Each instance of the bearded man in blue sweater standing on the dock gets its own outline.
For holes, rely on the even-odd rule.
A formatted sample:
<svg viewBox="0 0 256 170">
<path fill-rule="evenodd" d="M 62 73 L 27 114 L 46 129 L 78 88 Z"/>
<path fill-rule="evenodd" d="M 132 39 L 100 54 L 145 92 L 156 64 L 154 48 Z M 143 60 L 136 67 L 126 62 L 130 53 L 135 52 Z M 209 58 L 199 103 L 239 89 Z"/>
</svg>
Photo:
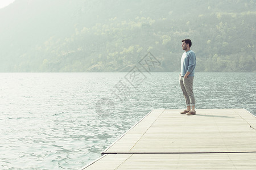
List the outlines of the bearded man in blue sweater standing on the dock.
<svg viewBox="0 0 256 170">
<path fill-rule="evenodd" d="M 180 87 L 186 100 L 187 109 L 181 114 L 195 115 L 196 100 L 193 93 L 193 79 L 195 76 L 196 54 L 190 49 L 192 42 L 182 40 L 182 49 L 185 50 L 181 57 Z"/>
</svg>

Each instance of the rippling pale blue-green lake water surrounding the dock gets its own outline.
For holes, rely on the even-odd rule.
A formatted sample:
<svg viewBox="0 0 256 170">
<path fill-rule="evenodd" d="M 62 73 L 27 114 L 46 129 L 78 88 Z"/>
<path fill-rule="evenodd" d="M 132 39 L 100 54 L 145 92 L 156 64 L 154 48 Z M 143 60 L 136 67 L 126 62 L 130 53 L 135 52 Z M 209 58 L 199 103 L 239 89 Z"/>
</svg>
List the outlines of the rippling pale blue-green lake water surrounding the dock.
<svg viewBox="0 0 256 170">
<path fill-rule="evenodd" d="M 0 73 L 0 79 L 0 169 L 79 169 L 152 109 L 185 108 L 179 73 Z M 255 85 L 255 73 L 196 73 L 196 108 L 256 115 Z"/>
</svg>

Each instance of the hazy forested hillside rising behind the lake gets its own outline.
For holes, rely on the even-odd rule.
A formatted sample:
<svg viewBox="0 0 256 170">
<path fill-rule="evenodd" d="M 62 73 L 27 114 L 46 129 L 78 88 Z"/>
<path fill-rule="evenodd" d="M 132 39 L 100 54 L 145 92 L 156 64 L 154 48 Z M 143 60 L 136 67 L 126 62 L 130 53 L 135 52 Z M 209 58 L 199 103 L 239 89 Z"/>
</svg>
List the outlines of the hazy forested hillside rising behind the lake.
<svg viewBox="0 0 256 170">
<path fill-rule="evenodd" d="M 16 0 L 0 22 L 1 72 L 179 71 L 183 39 L 196 71 L 256 71 L 253 0 Z"/>
</svg>

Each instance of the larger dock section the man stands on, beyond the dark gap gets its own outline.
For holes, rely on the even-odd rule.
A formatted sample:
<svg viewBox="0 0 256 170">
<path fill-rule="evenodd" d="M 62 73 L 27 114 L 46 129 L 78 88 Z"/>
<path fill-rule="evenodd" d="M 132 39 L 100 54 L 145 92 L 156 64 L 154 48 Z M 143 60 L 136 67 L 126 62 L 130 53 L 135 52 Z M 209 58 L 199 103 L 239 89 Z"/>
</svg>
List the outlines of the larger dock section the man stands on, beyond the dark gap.
<svg viewBox="0 0 256 170">
<path fill-rule="evenodd" d="M 153 114 L 158 115 L 151 116 L 156 120 L 142 120 L 104 154 L 256 151 L 256 130 L 246 116 L 241 118 L 248 114 L 245 109 L 197 109 L 196 116 L 181 115 L 178 110 Z"/>
</svg>

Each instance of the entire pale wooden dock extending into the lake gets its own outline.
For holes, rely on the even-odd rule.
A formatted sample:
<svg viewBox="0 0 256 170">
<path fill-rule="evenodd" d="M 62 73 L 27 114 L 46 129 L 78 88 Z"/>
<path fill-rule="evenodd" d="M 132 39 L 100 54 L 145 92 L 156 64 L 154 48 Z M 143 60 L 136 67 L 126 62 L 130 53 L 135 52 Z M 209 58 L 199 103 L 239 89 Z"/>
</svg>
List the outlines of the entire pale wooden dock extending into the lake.
<svg viewBox="0 0 256 170">
<path fill-rule="evenodd" d="M 256 169 L 256 117 L 245 109 L 154 109 L 81 169 Z"/>
</svg>

